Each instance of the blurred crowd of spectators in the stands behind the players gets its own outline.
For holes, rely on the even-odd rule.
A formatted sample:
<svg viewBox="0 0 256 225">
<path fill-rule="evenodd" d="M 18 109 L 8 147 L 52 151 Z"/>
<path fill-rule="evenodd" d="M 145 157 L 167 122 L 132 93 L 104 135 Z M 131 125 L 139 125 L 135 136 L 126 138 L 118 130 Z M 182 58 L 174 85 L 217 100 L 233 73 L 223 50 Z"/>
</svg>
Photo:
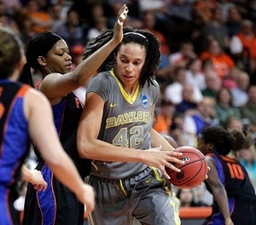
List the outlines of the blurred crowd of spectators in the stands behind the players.
<svg viewBox="0 0 256 225">
<path fill-rule="evenodd" d="M 25 48 L 38 32 L 59 34 L 74 68 L 86 43 L 113 28 L 123 3 L 129 8 L 125 26 L 160 39 L 155 130 L 177 146 L 196 147 L 210 125 L 243 130 L 256 140 L 255 0 L 0 0 L 0 26 L 11 27 Z M 256 189 L 255 154 L 253 145 L 239 159 Z M 212 204 L 203 184 L 194 191 L 177 193 L 195 194 L 192 206 Z"/>
</svg>

